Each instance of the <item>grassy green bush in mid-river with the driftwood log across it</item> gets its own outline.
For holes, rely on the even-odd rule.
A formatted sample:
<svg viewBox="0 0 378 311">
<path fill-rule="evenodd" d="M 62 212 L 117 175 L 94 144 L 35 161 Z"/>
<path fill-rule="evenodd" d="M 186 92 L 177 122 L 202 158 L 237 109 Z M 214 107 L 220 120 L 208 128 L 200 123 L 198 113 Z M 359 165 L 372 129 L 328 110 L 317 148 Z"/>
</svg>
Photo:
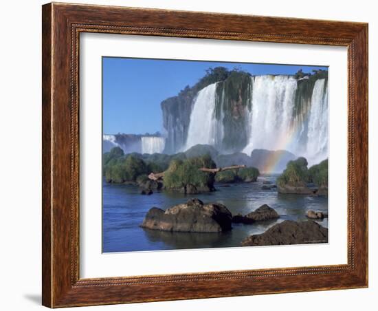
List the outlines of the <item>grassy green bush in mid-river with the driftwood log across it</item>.
<svg viewBox="0 0 378 311">
<path fill-rule="evenodd" d="M 210 156 L 201 156 L 187 160 L 172 160 L 164 175 L 164 187 L 168 190 L 186 189 L 188 185 L 199 191 L 213 190 L 214 174 L 200 171 L 201 167 L 216 167 Z"/>
</svg>

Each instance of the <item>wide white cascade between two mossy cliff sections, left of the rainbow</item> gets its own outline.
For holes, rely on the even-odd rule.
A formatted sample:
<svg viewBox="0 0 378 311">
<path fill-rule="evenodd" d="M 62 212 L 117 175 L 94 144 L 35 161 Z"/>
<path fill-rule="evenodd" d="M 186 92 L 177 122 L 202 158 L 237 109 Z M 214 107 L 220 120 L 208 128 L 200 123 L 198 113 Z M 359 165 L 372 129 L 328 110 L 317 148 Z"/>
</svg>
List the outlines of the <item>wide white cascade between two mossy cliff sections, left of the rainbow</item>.
<svg viewBox="0 0 378 311">
<path fill-rule="evenodd" d="M 280 146 L 291 130 L 297 81 L 291 76 L 252 78 L 252 109 L 249 111 L 249 143 L 243 152 L 253 149 L 290 149 Z"/>
</svg>

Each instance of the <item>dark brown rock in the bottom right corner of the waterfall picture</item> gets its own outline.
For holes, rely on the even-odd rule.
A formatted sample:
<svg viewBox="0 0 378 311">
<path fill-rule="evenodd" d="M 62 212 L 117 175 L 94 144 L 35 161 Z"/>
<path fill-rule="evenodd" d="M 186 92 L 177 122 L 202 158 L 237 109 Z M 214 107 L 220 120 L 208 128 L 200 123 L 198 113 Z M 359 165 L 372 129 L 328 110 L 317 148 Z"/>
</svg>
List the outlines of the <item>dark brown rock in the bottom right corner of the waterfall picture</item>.
<svg viewBox="0 0 378 311">
<path fill-rule="evenodd" d="M 285 220 L 260 235 L 251 235 L 242 246 L 313 244 L 328 242 L 328 229 L 313 220 L 294 222 Z"/>
</svg>

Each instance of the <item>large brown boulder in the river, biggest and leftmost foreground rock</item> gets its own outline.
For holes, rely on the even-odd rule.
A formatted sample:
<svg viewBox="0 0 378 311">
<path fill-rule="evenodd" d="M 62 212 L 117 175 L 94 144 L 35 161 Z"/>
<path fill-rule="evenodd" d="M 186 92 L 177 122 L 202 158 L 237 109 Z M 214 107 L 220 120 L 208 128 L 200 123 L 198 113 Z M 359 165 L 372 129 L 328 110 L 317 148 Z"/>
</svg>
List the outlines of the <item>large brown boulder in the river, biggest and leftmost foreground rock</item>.
<svg viewBox="0 0 378 311">
<path fill-rule="evenodd" d="M 152 230 L 217 233 L 231 230 L 231 219 L 232 214 L 224 205 L 192 199 L 166 211 L 151 208 L 141 226 Z"/>
</svg>

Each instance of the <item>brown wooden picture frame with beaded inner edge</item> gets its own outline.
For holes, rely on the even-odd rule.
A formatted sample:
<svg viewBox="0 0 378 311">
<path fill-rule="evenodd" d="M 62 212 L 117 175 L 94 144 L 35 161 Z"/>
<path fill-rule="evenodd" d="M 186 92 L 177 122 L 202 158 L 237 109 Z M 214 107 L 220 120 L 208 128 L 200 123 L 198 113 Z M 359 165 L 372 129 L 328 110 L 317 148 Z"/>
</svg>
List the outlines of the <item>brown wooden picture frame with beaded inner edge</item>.
<svg viewBox="0 0 378 311">
<path fill-rule="evenodd" d="M 368 286 L 368 24 L 49 3 L 43 6 L 43 305 L 50 308 Z M 79 277 L 79 34 L 348 47 L 348 264 Z"/>
</svg>

